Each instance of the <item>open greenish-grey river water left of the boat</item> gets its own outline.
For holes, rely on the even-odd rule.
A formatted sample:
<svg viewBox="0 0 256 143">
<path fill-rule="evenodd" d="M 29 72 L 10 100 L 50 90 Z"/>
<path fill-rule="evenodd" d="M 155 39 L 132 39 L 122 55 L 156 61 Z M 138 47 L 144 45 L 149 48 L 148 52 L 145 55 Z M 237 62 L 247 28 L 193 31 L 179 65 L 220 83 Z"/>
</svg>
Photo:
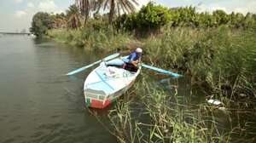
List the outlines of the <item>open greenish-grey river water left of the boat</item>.
<svg viewBox="0 0 256 143">
<path fill-rule="evenodd" d="M 63 76 L 106 55 L 35 37 L 0 37 L 0 142 L 117 142 L 86 112 L 90 70 Z"/>
</svg>

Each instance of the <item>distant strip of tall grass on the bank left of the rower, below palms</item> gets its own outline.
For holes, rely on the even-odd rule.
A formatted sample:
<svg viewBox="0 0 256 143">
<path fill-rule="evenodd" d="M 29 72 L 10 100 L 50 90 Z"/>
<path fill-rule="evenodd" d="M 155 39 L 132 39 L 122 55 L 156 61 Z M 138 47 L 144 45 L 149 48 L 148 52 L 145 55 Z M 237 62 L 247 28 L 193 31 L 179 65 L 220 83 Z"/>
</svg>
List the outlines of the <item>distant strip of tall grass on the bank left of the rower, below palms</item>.
<svg viewBox="0 0 256 143">
<path fill-rule="evenodd" d="M 59 42 L 70 43 L 95 51 L 116 52 L 131 49 L 131 45 L 140 44 L 126 32 L 113 30 L 66 30 L 57 29 L 49 33 L 50 37 Z M 133 46 L 134 47 L 134 46 Z"/>
</svg>

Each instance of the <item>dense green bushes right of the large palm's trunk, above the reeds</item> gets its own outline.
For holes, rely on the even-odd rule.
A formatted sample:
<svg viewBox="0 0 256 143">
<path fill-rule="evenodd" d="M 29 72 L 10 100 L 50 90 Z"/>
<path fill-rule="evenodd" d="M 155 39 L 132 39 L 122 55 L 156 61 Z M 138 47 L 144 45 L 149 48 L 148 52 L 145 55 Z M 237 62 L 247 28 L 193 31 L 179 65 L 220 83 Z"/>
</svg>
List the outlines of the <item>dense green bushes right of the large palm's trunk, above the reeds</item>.
<svg viewBox="0 0 256 143">
<path fill-rule="evenodd" d="M 128 31 L 154 31 L 166 24 L 172 27 L 192 26 L 192 27 L 217 27 L 228 25 L 231 28 L 255 27 L 256 14 L 241 13 L 227 14 L 224 10 L 215 10 L 212 14 L 207 12 L 198 13 L 196 8 L 189 6 L 185 8 L 167 9 L 160 5 L 149 2 L 137 13 L 123 14 L 115 20 L 115 27 Z"/>
</svg>

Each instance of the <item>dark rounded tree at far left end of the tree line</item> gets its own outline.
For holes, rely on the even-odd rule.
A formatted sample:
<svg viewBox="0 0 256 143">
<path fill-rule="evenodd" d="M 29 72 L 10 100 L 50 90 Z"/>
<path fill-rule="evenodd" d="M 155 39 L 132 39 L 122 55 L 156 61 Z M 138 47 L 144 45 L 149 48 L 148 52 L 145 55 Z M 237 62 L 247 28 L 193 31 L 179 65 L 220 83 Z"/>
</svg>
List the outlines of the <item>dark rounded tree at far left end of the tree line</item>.
<svg viewBox="0 0 256 143">
<path fill-rule="evenodd" d="M 37 37 L 41 37 L 51 29 L 51 21 L 49 18 L 49 14 L 38 12 L 37 14 L 33 15 L 32 18 L 32 27 L 30 28 L 30 31 L 34 33 Z"/>
</svg>

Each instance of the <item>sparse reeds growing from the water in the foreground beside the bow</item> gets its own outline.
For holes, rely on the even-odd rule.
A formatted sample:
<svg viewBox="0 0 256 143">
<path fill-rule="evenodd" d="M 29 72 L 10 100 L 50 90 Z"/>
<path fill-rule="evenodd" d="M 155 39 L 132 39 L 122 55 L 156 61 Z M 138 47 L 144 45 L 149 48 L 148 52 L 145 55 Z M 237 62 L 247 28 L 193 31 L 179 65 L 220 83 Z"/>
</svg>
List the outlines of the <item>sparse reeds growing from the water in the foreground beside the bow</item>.
<svg viewBox="0 0 256 143">
<path fill-rule="evenodd" d="M 192 104 L 185 100 L 186 94 L 178 90 L 166 92 L 150 88 L 147 75 L 137 81 L 133 98 L 126 94 L 109 118 L 116 136 L 121 142 L 253 142 L 254 123 L 239 120 L 230 108 L 221 111 L 204 100 Z M 143 88 L 142 88 L 143 87 Z M 134 98 L 135 96 L 135 98 Z M 139 97 L 139 101 L 138 101 Z M 222 119 L 216 117 L 222 112 L 230 119 L 230 128 L 224 128 Z M 251 112 L 253 113 L 253 111 Z M 228 123 L 228 122 L 227 122 Z M 251 135 L 251 136 L 250 136 Z"/>
</svg>

